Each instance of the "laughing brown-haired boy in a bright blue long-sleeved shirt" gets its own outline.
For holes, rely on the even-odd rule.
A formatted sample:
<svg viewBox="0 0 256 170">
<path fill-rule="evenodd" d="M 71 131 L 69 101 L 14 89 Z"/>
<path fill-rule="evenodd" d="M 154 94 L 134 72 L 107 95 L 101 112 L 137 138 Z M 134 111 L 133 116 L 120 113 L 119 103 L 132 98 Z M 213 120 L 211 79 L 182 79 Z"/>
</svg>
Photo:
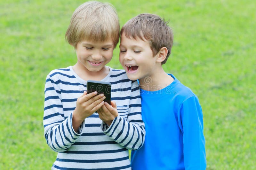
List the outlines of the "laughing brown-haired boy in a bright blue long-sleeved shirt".
<svg viewBox="0 0 256 170">
<path fill-rule="evenodd" d="M 121 29 L 119 60 L 131 80 L 139 80 L 144 145 L 132 151 L 133 170 L 206 168 L 203 114 L 197 96 L 162 67 L 173 34 L 168 22 L 140 14 Z"/>
</svg>

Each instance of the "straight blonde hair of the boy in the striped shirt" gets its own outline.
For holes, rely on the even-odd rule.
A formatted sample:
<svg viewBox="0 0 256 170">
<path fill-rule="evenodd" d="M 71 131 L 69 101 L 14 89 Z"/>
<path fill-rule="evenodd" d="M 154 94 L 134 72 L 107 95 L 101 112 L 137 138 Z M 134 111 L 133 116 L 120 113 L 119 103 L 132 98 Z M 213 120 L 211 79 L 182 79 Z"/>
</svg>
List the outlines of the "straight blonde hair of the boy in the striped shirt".
<svg viewBox="0 0 256 170">
<path fill-rule="evenodd" d="M 111 38 L 116 47 L 120 37 L 119 30 L 119 20 L 113 5 L 89 1 L 74 11 L 65 39 L 76 47 L 82 40 L 103 42 Z"/>
</svg>

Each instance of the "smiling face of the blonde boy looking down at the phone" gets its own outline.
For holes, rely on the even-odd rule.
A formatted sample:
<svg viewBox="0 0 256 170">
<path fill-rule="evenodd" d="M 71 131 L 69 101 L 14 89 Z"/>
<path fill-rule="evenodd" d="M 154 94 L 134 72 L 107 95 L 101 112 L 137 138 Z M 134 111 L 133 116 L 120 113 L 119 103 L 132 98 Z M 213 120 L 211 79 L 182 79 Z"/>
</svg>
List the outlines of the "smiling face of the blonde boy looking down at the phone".
<svg viewBox="0 0 256 170">
<path fill-rule="evenodd" d="M 104 42 L 80 41 L 76 45 L 76 64 L 88 73 L 104 72 L 105 65 L 112 59 L 113 50 L 112 39 Z"/>
</svg>

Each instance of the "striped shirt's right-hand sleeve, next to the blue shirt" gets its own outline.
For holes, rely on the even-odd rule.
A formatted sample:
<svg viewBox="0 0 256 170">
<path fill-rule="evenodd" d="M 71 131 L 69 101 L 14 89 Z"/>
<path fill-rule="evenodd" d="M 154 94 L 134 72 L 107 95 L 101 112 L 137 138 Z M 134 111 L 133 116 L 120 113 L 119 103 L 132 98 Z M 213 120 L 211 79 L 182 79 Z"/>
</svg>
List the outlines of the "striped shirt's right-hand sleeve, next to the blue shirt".
<svg viewBox="0 0 256 170">
<path fill-rule="evenodd" d="M 101 129 L 103 127 L 104 123 L 101 124 Z M 109 128 L 103 132 L 130 150 L 139 149 L 143 145 L 146 132 L 141 118 L 140 89 L 137 81 L 132 83 L 127 119 L 117 116 Z"/>
</svg>

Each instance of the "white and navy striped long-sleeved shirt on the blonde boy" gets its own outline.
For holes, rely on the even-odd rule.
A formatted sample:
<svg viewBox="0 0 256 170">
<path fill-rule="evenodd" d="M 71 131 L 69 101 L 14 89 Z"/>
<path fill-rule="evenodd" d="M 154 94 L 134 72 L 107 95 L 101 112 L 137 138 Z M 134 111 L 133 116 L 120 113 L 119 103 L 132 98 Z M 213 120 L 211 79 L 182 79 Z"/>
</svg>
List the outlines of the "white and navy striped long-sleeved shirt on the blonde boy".
<svg viewBox="0 0 256 170">
<path fill-rule="evenodd" d="M 131 169 L 128 149 L 139 149 L 145 138 L 140 90 L 124 70 L 109 69 L 101 81 L 111 83 L 111 100 L 116 102 L 119 115 L 108 127 L 93 113 L 78 132 L 72 128 L 72 112 L 86 90 L 86 81 L 71 66 L 47 75 L 44 136 L 50 148 L 58 152 L 52 169 Z"/>
</svg>

